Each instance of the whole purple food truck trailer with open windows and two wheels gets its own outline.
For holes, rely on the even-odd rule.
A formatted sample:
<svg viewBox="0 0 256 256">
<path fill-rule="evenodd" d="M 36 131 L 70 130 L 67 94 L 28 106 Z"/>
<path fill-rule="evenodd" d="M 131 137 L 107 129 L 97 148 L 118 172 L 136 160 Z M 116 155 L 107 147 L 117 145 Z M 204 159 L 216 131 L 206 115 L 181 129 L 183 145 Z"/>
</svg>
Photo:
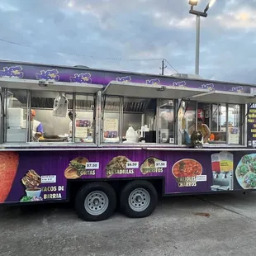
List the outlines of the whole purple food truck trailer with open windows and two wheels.
<svg viewBox="0 0 256 256">
<path fill-rule="evenodd" d="M 91 221 L 256 188 L 254 85 L 1 61 L 0 87 L 0 203 L 73 199 Z"/>
</svg>

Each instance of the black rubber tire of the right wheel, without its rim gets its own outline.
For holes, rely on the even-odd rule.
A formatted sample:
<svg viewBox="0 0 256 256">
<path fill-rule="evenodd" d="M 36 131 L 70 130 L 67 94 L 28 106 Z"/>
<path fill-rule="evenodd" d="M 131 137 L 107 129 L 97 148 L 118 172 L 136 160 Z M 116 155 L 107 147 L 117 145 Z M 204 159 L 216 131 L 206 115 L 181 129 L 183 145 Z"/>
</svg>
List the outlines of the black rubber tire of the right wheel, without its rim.
<svg viewBox="0 0 256 256">
<path fill-rule="evenodd" d="M 145 189 L 150 196 L 149 206 L 145 208 L 143 211 L 135 211 L 129 205 L 129 197 L 130 193 L 133 192 L 136 188 Z M 130 218 L 145 218 L 151 215 L 157 206 L 158 202 L 158 193 L 156 192 L 154 186 L 147 181 L 133 181 L 131 183 L 126 184 L 121 191 L 120 197 L 120 206 L 121 211 Z"/>
</svg>

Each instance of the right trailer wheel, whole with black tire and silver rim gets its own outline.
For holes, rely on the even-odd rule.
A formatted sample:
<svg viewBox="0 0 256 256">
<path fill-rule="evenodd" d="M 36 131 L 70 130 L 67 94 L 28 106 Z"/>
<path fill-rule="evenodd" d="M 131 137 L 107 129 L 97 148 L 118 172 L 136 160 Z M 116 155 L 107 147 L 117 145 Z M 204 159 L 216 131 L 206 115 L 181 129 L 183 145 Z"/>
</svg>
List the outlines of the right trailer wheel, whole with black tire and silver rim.
<svg viewBox="0 0 256 256">
<path fill-rule="evenodd" d="M 128 183 L 121 191 L 121 211 L 130 218 L 144 218 L 155 209 L 158 193 L 147 181 Z"/>
</svg>

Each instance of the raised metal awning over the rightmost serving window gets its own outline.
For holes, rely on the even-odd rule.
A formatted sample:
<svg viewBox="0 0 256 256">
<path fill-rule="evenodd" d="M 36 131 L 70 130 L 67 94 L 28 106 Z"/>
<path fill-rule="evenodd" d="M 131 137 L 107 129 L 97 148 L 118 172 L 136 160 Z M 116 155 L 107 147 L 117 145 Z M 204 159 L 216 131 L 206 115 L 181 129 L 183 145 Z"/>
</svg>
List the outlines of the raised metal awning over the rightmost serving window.
<svg viewBox="0 0 256 256">
<path fill-rule="evenodd" d="M 241 92 L 221 92 L 211 91 L 190 97 L 191 100 L 197 102 L 212 102 L 212 103 L 233 103 L 233 104 L 247 104 L 256 103 L 256 97 L 252 93 Z"/>
</svg>

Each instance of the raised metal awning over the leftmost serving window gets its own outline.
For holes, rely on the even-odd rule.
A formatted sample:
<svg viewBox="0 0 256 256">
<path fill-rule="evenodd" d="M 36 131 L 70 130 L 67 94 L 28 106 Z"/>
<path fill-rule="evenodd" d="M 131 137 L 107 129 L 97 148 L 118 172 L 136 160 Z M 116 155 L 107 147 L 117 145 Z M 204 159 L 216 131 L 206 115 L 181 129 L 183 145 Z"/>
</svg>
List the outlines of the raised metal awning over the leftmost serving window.
<svg viewBox="0 0 256 256">
<path fill-rule="evenodd" d="M 0 88 L 47 90 L 56 92 L 81 92 L 94 94 L 102 90 L 103 86 L 90 83 L 64 83 L 20 78 L 0 78 Z"/>
</svg>

